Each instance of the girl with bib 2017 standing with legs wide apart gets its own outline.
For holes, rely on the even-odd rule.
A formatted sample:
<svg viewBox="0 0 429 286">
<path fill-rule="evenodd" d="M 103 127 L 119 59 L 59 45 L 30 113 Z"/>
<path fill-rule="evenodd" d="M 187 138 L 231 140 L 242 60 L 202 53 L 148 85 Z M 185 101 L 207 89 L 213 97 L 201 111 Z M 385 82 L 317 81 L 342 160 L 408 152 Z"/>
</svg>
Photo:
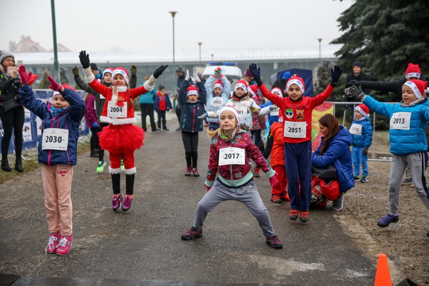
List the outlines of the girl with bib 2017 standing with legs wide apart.
<svg viewBox="0 0 429 286">
<path fill-rule="evenodd" d="M 208 212 L 222 201 L 237 200 L 243 202 L 256 218 L 266 237 L 266 243 L 274 248 L 282 248 L 253 181 L 248 164 L 250 158 L 261 167 L 271 185 L 278 183 L 277 174 L 265 161 L 258 147 L 253 144 L 250 135 L 238 128 L 239 120 L 237 110 L 226 106 L 220 111 L 221 127 L 213 131 L 207 130 L 208 136 L 212 138 L 204 183 L 207 193 L 198 202 L 191 229 L 181 238 L 190 240 L 201 237 L 202 226 Z M 219 176 L 215 181 L 218 172 Z"/>
</svg>

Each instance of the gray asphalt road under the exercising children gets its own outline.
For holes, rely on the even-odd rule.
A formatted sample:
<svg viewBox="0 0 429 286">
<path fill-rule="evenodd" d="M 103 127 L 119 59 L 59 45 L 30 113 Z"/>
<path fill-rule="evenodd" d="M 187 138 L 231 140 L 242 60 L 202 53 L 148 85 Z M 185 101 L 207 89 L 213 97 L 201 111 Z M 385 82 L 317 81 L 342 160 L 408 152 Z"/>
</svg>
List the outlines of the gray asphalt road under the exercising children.
<svg viewBox="0 0 429 286">
<path fill-rule="evenodd" d="M 70 285 L 80 278 L 86 281 L 82 285 L 373 285 L 376 265 L 343 233 L 333 211 L 311 209 L 308 223 L 290 221 L 289 203 L 269 200 L 263 174 L 256 184 L 283 249 L 269 247 L 245 205 L 235 201 L 209 213 L 201 238 L 182 241 L 205 193 L 210 140 L 205 130 L 200 132 L 201 176 L 185 177 L 177 121 L 168 126 L 170 131 L 147 133 L 145 146 L 135 152 L 137 174 L 128 212 L 111 208 L 108 165 L 97 174 L 97 159 L 89 153 L 79 157 L 72 187 L 75 240 L 65 256 L 45 255 L 48 230 L 40 170 L 0 184 L 0 273 L 25 277 L 18 279 L 19 285 L 49 284 L 52 279 L 45 277 Z M 124 190 L 125 175 L 121 184 Z"/>
</svg>

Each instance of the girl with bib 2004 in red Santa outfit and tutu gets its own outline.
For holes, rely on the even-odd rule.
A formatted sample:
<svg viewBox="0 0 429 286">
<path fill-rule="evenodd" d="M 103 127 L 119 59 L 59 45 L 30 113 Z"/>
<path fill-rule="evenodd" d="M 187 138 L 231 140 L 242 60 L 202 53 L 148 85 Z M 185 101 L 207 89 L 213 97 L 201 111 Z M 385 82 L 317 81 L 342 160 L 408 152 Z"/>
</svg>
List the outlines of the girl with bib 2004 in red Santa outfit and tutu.
<svg viewBox="0 0 429 286">
<path fill-rule="evenodd" d="M 145 84 L 139 88 L 130 89 L 129 77 L 125 68 L 117 67 L 112 74 L 112 87 L 106 87 L 95 80 L 91 72 L 89 54 L 81 51 L 79 54 L 82 67 L 84 68 L 85 80 L 88 85 L 98 93 L 106 97 L 103 107 L 101 122 L 109 123 L 101 132 L 98 132 L 100 146 L 109 151 L 109 173 L 112 176 L 113 200 L 112 208 L 118 210 L 122 203 L 122 210 L 127 211 L 131 207 L 134 175 L 134 150 L 144 145 L 144 131 L 133 125 L 134 98 L 145 94 L 154 88 L 156 79 L 164 72 L 168 65 L 161 65 Z M 125 198 L 121 195 L 121 155 L 125 166 Z"/>
</svg>

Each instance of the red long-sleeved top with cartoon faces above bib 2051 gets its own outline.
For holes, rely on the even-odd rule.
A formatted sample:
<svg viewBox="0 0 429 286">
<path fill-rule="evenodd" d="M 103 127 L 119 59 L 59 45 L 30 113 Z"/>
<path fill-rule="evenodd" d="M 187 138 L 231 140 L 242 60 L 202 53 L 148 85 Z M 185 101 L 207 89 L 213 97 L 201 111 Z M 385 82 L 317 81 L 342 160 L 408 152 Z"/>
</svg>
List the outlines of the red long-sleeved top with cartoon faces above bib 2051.
<svg viewBox="0 0 429 286">
<path fill-rule="evenodd" d="M 300 101 L 292 101 L 289 97 L 281 98 L 267 90 L 264 84 L 259 87 L 259 90 L 262 92 L 262 95 L 272 103 L 280 108 L 281 114 L 283 116 L 283 130 L 285 122 L 305 122 L 306 123 L 306 134 L 302 138 L 293 138 L 283 136 L 283 142 L 288 143 L 301 143 L 308 140 L 311 140 L 311 117 L 313 109 L 328 99 L 331 96 L 332 91 L 334 90 L 331 85 L 328 85 L 326 90 L 315 97 L 303 96 Z M 280 114 L 279 114 L 280 115 Z"/>
</svg>

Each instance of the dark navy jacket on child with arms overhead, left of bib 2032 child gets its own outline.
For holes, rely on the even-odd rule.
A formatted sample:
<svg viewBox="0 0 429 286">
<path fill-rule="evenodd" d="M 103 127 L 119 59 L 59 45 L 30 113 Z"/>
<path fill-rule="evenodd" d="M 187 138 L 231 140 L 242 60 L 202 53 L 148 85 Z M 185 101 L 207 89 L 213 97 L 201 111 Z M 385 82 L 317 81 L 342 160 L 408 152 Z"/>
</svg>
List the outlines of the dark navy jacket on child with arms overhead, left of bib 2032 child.
<svg viewBox="0 0 429 286">
<path fill-rule="evenodd" d="M 179 104 L 182 110 L 180 129 L 186 132 L 199 132 L 202 131 L 202 119 L 199 119 L 198 116 L 205 113 L 205 88 L 203 83 L 196 83 L 198 99 L 196 102 L 189 102 L 186 97 L 186 90 L 191 84 L 191 79 L 183 81 L 179 89 Z"/>
</svg>

